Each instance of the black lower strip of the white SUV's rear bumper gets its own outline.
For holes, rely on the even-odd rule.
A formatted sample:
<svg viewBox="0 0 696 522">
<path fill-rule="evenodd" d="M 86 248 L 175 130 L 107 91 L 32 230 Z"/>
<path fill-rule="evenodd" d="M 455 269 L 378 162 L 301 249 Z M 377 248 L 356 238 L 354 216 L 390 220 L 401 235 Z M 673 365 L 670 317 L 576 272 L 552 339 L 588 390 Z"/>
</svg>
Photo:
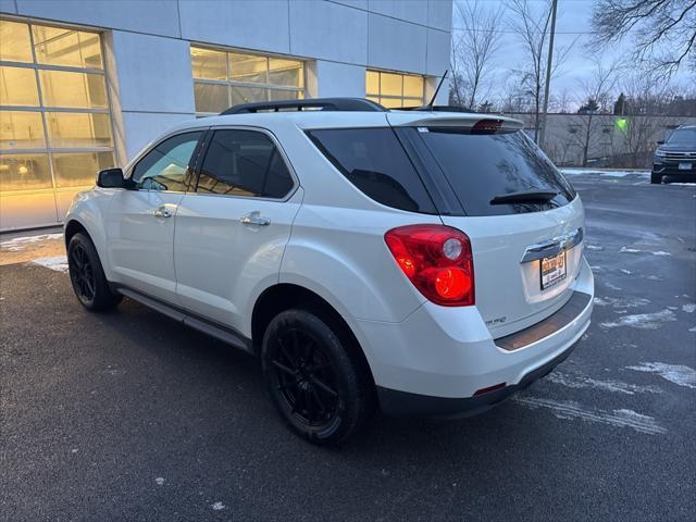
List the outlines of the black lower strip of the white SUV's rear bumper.
<svg viewBox="0 0 696 522">
<path fill-rule="evenodd" d="M 530 384 L 542 378 L 558 364 L 563 362 L 575 349 L 579 343 L 573 344 L 550 361 L 531 371 L 518 384 L 505 386 L 474 397 L 450 398 L 433 397 L 427 395 L 409 394 L 377 387 L 377 396 L 382 411 L 391 417 L 428 417 L 436 419 L 462 419 L 476 415 L 489 410 L 494 406 L 507 399 L 510 395 L 526 388 Z"/>
</svg>

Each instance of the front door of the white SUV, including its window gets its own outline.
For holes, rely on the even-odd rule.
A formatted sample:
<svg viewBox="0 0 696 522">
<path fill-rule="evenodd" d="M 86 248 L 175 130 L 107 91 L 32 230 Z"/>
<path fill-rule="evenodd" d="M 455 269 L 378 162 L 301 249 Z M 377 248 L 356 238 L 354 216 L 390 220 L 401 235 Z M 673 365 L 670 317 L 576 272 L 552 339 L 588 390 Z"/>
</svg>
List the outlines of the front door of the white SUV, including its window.
<svg viewBox="0 0 696 522">
<path fill-rule="evenodd" d="M 202 130 L 160 141 L 132 169 L 133 189 L 109 206 L 107 250 L 116 282 L 176 303 L 174 221 Z"/>
</svg>

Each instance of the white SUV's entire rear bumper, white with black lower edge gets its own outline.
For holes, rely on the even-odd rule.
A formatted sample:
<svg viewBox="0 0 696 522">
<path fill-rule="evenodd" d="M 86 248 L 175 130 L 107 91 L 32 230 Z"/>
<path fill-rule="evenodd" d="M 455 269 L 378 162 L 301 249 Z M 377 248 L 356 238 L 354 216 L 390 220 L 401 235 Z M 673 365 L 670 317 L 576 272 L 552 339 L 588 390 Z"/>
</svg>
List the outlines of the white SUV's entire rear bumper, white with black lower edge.
<svg viewBox="0 0 696 522">
<path fill-rule="evenodd" d="M 356 335 L 383 410 L 471 414 L 538 378 L 568 357 L 589 326 L 594 279 L 585 260 L 573 288 L 580 301 L 571 299 L 569 308 L 563 306 L 540 323 L 495 340 L 475 307 L 424 303 L 400 323 L 359 321 Z M 520 339 L 521 346 L 511 346 Z M 504 383 L 495 391 L 475 395 Z M 438 399 L 444 399 L 439 406 Z"/>
</svg>

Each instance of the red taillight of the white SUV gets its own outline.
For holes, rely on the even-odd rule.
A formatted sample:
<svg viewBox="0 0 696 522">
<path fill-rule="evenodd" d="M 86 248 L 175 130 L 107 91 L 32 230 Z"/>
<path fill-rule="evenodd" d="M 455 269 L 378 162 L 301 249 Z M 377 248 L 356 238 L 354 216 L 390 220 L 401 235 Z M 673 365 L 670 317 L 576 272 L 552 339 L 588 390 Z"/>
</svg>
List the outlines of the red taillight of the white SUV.
<svg viewBox="0 0 696 522">
<path fill-rule="evenodd" d="M 469 237 L 444 225 L 408 225 L 384 235 L 406 276 L 431 301 L 474 304 L 474 261 Z"/>
</svg>

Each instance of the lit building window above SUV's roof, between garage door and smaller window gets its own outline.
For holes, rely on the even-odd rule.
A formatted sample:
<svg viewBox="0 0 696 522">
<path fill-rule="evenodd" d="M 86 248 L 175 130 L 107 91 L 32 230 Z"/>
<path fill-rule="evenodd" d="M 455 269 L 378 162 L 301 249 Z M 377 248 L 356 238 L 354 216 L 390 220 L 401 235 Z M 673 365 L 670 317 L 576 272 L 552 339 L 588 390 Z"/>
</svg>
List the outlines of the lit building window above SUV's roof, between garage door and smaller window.
<svg viewBox="0 0 696 522">
<path fill-rule="evenodd" d="M 304 98 L 300 60 L 191 47 L 191 71 L 199 116 L 252 101 Z"/>
</svg>

